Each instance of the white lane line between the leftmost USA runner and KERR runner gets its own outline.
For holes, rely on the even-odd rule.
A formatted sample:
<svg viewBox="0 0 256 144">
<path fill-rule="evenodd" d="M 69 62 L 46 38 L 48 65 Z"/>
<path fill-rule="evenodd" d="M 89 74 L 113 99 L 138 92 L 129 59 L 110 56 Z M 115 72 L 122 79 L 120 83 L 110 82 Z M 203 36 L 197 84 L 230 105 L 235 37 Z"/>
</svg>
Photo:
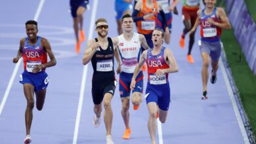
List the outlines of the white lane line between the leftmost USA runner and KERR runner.
<svg viewBox="0 0 256 144">
<path fill-rule="evenodd" d="M 95 29 L 94 27 L 95 27 L 95 17 L 96 17 L 97 5 L 98 5 L 98 0 L 93 1 L 93 9 L 92 9 L 92 15 L 91 15 L 91 23 L 90 23 L 90 27 L 89 27 L 88 40 L 92 39 L 92 37 L 93 37 L 93 32 Z M 76 119 L 75 119 L 75 130 L 74 130 L 73 144 L 77 143 L 77 135 L 78 135 L 81 111 L 82 111 L 82 106 L 83 106 L 83 96 L 85 93 L 85 82 L 86 82 L 86 77 L 87 77 L 87 69 L 88 69 L 88 65 L 85 65 L 83 67 L 83 77 L 82 77 L 82 81 L 81 81 L 79 102 L 78 102 L 78 107 L 77 107 L 77 115 L 76 115 Z"/>
</svg>

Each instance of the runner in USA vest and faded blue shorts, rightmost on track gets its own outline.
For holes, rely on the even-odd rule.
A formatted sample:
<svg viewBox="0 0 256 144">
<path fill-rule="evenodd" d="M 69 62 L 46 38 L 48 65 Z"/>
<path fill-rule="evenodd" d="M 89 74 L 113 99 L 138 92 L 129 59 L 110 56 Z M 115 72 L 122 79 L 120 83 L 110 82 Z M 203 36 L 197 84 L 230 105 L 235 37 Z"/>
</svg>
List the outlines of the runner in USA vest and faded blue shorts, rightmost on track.
<svg viewBox="0 0 256 144">
<path fill-rule="evenodd" d="M 202 99 L 207 99 L 207 82 L 209 78 L 208 67 L 211 59 L 211 83 L 217 81 L 216 73 L 218 69 L 219 58 L 221 56 L 221 31 L 222 29 L 230 29 L 230 23 L 226 17 L 226 12 L 215 7 L 217 0 L 205 0 L 205 9 L 198 10 L 198 18 L 196 24 L 190 33 L 196 31 L 196 27 L 201 26 L 201 41 L 199 41 L 200 52 L 203 59 L 203 67 L 201 71 L 203 82 Z"/>
</svg>

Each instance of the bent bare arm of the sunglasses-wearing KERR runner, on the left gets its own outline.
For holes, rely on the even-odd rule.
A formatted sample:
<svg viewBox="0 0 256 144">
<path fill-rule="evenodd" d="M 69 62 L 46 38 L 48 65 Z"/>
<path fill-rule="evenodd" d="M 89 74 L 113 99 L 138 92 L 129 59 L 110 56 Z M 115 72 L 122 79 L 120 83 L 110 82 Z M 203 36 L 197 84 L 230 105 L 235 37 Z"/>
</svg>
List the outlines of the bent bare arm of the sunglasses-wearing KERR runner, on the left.
<svg viewBox="0 0 256 144">
<path fill-rule="evenodd" d="M 100 47 L 100 44 L 95 42 L 95 39 L 90 39 L 90 41 L 88 41 L 87 48 L 83 54 L 83 65 L 86 65 L 90 62 L 98 47 Z"/>
</svg>

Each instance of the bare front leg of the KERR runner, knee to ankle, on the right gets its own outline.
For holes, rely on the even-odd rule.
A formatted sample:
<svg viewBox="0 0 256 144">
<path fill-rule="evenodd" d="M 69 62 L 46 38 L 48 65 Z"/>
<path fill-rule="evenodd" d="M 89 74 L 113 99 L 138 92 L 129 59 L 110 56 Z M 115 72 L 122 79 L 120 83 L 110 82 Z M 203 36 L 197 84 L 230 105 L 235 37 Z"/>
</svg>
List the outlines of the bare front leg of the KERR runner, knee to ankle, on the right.
<svg viewBox="0 0 256 144">
<path fill-rule="evenodd" d="M 113 119 L 113 111 L 111 107 L 111 99 L 113 95 L 110 93 L 106 93 L 103 99 L 103 105 L 105 109 L 104 113 L 104 123 L 106 126 L 106 135 L 111 135 L 111 128 L 112 128 L 112 119 Z"/>
</svg>

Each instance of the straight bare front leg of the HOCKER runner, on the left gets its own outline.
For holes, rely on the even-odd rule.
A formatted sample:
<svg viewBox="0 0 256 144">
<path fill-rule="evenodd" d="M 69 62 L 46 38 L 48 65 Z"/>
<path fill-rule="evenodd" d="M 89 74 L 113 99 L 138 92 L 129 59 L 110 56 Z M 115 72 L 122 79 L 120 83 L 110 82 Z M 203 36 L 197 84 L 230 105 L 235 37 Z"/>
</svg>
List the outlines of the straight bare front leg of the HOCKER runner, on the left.
<svg viewBox="0 0 256 144">
<path fill-rule="evenodd" d="M 148 132 L 150 133 L 150 139 L 152 144 L 156 144 L 156 112 L 158 105 L 155 102 L 149 102 L 148 107 Z"/>
</svg>

